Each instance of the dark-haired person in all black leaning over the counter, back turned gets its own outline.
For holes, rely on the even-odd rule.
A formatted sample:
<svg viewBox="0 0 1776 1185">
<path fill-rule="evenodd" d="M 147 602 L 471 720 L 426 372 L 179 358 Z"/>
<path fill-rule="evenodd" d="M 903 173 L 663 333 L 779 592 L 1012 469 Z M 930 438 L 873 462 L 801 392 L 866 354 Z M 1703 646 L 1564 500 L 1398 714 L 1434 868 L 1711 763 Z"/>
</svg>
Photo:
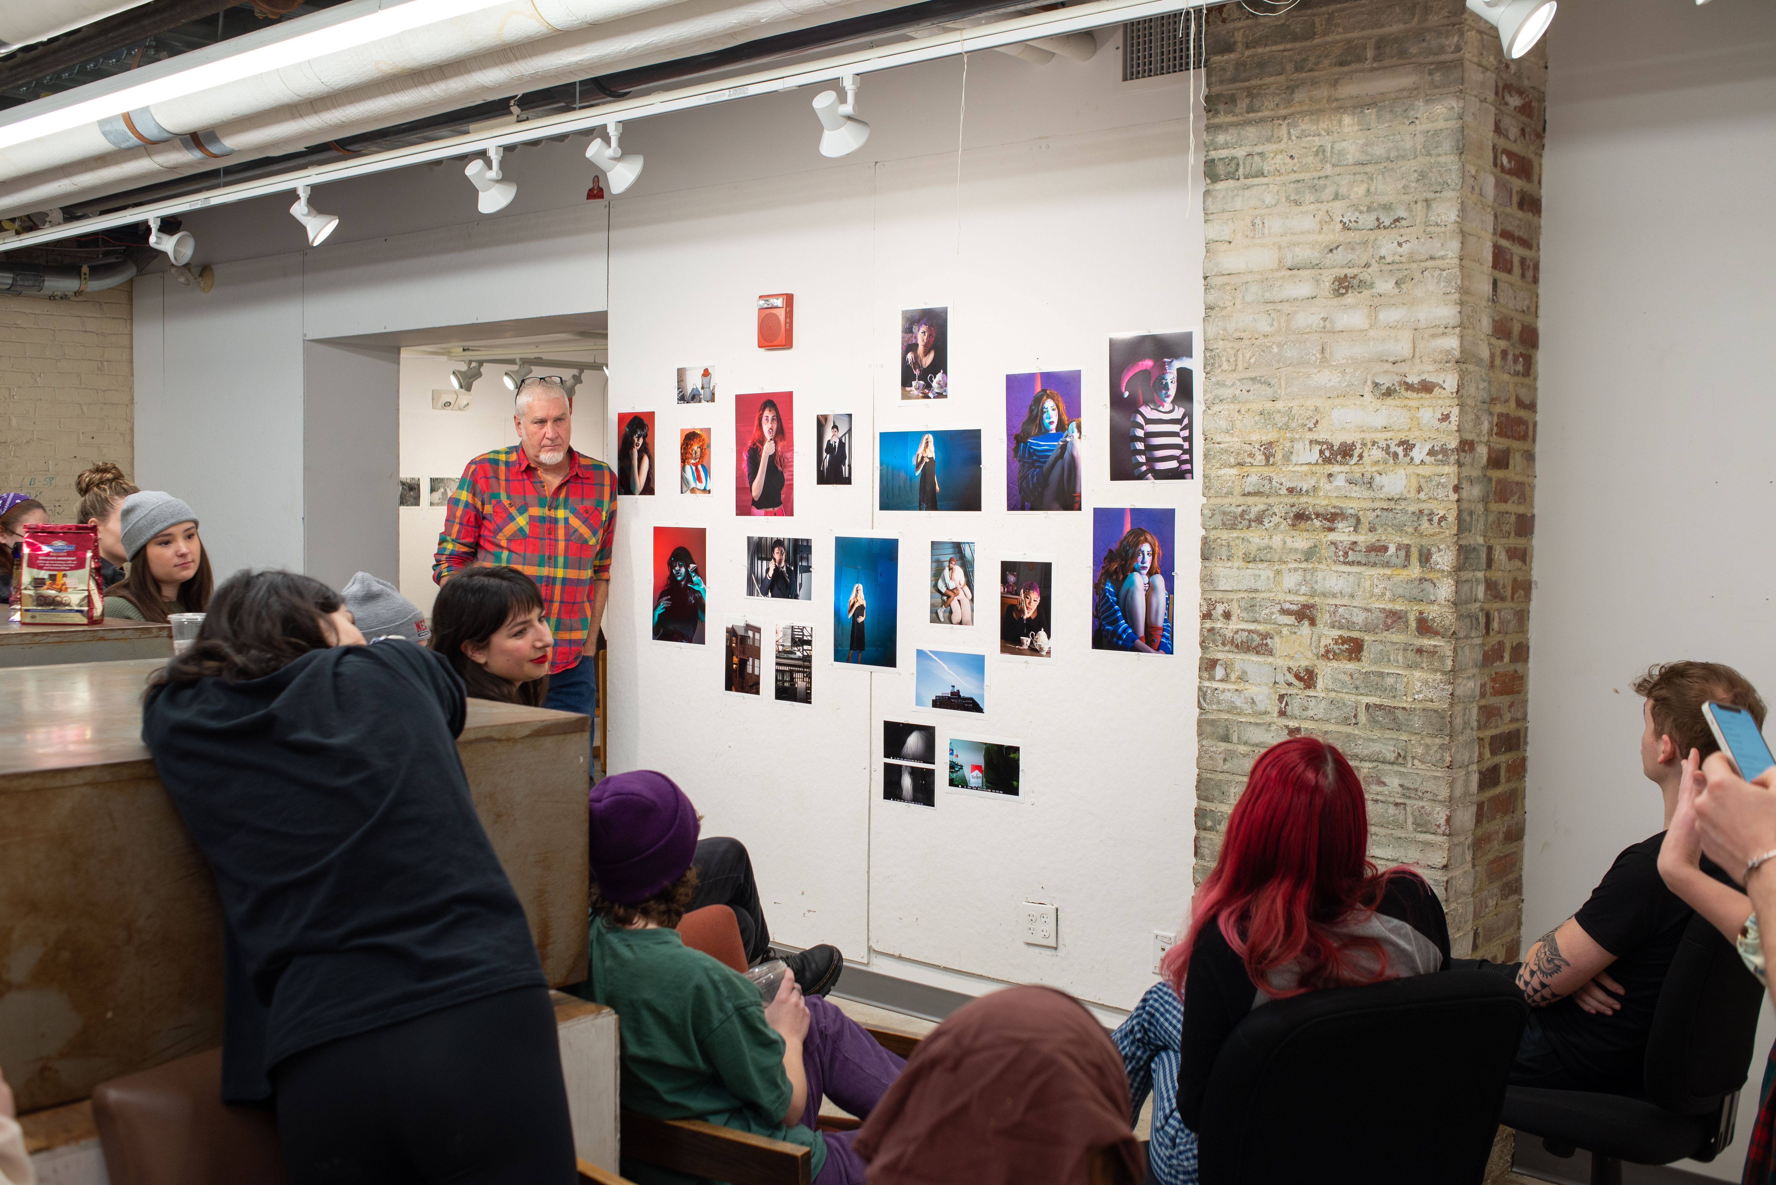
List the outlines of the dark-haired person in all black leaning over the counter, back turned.
<svg viewBox="0 0 1776 1185">
<path fill-rule="evenodd" d="M 226 1102 L 293 1185 L 556 1181 L 574 1134 L 524 910 L 474 814 L 464 687 L 288 571 L 217 589 L 142 740 L 227 922 Z"/>
</svg>

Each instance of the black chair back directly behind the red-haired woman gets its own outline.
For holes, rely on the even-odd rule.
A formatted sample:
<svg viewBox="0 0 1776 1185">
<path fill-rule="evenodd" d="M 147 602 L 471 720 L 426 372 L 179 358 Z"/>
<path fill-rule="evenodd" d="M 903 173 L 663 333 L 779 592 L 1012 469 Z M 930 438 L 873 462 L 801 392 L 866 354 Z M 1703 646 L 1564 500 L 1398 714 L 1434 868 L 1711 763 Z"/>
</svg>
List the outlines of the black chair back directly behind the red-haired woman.
<svg viewBox="0 0 1776 1185">
<path fill-rule="evenodd" d="M 1483 970 L 1254 1008 L 1209 1073 L 1202 1185 L 1479 1185 L 1527 1015 Z"/>
</svg>

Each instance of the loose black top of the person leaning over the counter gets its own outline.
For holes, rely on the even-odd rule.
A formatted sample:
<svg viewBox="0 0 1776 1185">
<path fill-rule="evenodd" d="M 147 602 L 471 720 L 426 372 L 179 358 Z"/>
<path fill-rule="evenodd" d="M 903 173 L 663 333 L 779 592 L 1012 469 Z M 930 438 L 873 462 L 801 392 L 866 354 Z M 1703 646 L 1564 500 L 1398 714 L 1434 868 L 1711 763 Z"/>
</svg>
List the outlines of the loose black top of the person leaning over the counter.
<svg viewBox="0 0 1776 1185">
<path fill-rule="evenodd" d="M 456 756 L 464 708 L 405 640 L 151 694 L 142 743 L 222 898 L 226 1102 L 314 1045 L 543 986 Z"/>
</svg>

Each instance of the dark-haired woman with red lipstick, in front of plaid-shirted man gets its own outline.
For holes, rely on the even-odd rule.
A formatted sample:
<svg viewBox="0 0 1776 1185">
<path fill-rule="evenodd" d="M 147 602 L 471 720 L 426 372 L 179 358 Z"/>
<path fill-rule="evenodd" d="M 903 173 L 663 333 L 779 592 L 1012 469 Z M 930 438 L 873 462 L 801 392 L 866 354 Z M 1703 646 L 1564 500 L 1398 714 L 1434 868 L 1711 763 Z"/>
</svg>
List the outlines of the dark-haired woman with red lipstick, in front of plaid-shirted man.
<svg viewBox="0 0 1776 1185">
<path fill-rule="evenodd" d="M 517 568 L 464 568 L 432 605 L 432 649 L 476 699 L 540 708 L 552 646 L 542 589 Z"/>
</svg>

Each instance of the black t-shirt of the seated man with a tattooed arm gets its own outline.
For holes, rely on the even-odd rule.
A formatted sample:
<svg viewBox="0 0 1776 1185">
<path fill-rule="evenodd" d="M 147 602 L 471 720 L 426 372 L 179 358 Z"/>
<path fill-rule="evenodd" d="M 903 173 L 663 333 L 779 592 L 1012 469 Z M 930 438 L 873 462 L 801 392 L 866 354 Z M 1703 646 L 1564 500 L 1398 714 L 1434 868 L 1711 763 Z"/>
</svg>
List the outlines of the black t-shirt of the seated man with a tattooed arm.
<svg viewBox="0 0 1776 1185">
<path fill-rule="evenodd" d="M 1607 967 L 1621 985 L 1621 1008 L 1595 1016 L 1566 997 L 1540 1013 L 1542 1031 L 1584 1089 L 1639 1095 L 1646 1077 L 1646 1036 L 1653 1027 L 1659 990 L 1677 956 L 1678 942 L 1694 910 L 1671 892 L 1659 875 L 1664 832 L 1623 848 L 1575 921 L 1591 938 L 1616 956 Z M 1701 869 L 1726 883 L 1712 862 Z"/>
</svg>

